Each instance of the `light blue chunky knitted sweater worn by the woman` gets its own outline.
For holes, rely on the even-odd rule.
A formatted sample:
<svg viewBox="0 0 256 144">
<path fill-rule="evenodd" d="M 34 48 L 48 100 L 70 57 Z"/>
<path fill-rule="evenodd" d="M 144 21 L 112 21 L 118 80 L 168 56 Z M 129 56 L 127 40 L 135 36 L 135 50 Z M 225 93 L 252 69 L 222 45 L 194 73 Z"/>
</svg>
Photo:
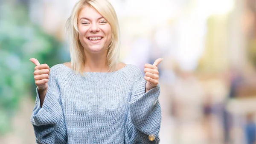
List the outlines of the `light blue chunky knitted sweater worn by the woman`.
<svg viewBox="0 0 256 144">
<path fill-rule="evenodd" d="M 44 104 L 37 91 L 31 116 L 35 141 L 43 144 L 158 144 L 160 86 L 145 93 L 135 65 L 110 73 L 76 74 L 51 68 Z M 154 135 L 154 141 L 148 136 Z"/>
</svg>

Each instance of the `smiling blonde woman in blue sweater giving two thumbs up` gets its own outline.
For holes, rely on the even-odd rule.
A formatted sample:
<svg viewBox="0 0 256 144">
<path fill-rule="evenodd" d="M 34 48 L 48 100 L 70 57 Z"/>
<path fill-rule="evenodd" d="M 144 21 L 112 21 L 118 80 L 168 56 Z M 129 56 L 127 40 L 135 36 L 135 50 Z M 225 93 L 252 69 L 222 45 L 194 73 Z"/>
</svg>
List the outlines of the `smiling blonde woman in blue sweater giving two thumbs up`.
<svg viewBox="0 0 256 144">
<path fill-rule="evenodd" d="M 35 66 L 31 123 L 43 144 L 157 144 L 161 123 L 157 59 L 118 62 L 119 25 L 107 0 L 80 0 L 67 20 L 71 62 Z"/>
</svg>

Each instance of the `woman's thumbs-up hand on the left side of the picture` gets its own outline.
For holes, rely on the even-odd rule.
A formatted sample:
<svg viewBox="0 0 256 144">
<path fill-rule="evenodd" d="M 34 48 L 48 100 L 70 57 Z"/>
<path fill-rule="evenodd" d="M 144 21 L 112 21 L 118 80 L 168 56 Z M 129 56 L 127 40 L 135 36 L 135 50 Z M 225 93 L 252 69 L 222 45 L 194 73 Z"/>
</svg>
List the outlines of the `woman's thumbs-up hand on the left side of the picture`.
<svg viewBox="0 0 256 144">
<path fill-rule="evenodd" d="M 40 65 L 38 60 L 35 58 L 31 58 L 29 60 L 35 64 L 35 71 L 34 71 L 35 85 L 37 86 L 38 90 L 47 90 L 49 74 L 50 74 L 49 66 L 47 64 Z"/>
</svg>

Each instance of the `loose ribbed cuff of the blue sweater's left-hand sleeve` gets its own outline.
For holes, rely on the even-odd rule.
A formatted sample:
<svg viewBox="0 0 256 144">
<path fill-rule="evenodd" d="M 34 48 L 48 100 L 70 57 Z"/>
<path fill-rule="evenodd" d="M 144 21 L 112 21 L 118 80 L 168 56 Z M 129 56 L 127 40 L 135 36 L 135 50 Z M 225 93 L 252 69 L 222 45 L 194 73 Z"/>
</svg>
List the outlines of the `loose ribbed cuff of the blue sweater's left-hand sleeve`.
<svg viewBox="0 0 256 144">
<path fill-rule="evenodd" d="M 49 123 L 58 123 L 62 116 L 62 109 L 58 100 L 54 95 L 52 95 L 51 90 L 49 88 L 47 89 L 42 107 L 40 105 L 38 88 L 36 88 L 36 93 L 35 108 L 31 116 L 32 124 L 44 125 Z"/>
</svg>

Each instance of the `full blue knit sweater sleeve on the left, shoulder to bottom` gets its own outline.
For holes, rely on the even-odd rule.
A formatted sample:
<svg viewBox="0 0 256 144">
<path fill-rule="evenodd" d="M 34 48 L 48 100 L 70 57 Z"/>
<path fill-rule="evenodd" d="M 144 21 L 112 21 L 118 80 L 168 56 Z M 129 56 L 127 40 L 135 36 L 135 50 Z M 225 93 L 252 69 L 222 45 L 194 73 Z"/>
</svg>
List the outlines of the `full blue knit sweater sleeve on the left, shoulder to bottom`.
<svg viewBox="0 0 256 144">
<path fill-rule="evenodd" d="M 64 121 L 60 88 L 56 80 L 57 66 L 50 70 L 48 89 L 43 106 L 40 105 L 38 89 L 35 107 L 30 122 L 34 127 L 35 141 L 38 144 L 66 144 L 67 130 Z"/>
</svg>

